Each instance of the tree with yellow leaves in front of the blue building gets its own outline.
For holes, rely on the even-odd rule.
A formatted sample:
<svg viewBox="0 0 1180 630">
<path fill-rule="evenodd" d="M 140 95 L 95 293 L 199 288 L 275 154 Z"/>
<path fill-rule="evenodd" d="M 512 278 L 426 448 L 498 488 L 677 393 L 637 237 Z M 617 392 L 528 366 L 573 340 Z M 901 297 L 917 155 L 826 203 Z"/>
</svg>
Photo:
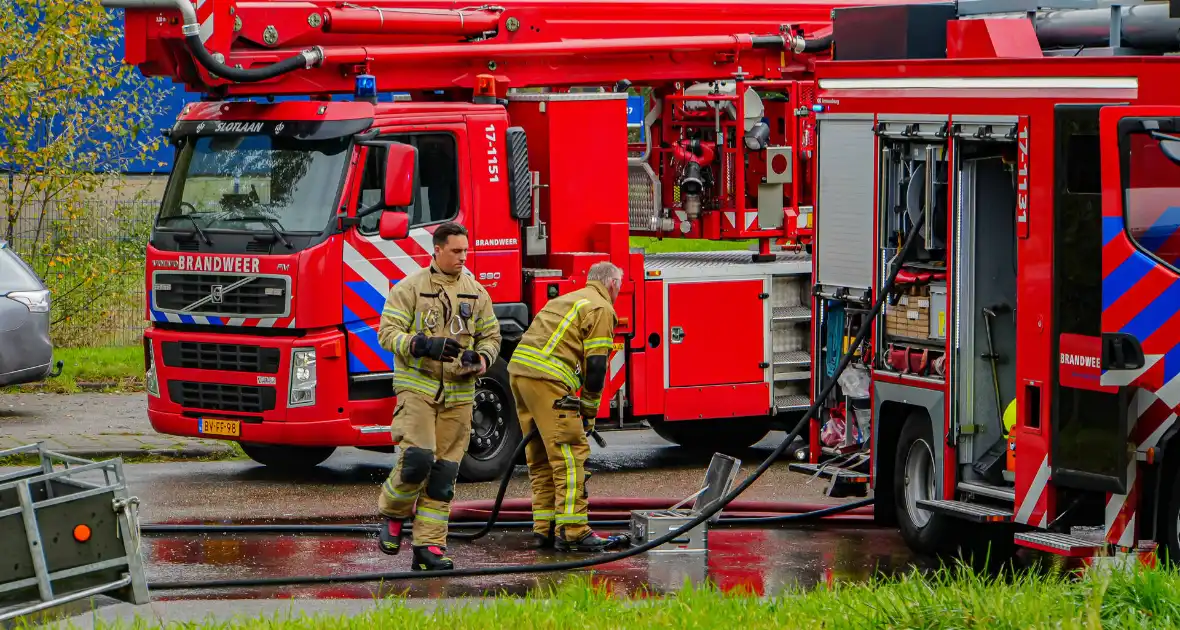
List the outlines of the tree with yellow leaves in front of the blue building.
<svg viewBox="0 0 1180 630">
<path fill-rule="evenodd" d="M 160 146 L 159 79 L 123 64 L 119 13 L 98 0 L 0 6 L 0 237 L 50 286 L 54 320 L 101 316 L 112 277 L 142 278 L 145 238 L 107 235 L 120 173 Z"/>
</svg>

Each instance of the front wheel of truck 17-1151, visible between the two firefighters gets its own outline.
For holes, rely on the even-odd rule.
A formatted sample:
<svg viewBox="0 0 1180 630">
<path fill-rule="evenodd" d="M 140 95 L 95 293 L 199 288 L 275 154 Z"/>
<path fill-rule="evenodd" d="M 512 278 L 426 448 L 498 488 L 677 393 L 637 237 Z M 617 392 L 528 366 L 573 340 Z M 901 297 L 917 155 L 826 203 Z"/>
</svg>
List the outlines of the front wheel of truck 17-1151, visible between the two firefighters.
<svg viewBox="0 0 1180 630">
<path fill-rule="evenodd" d="M 476 403 L 471 418 L 471 442 L 459 462 L 459 479 L 494 481 L 513 465 L 512 453 L 520 445 L 520 422 L 516 415 L 509 366 L 497 359 L 476 381 Z"/>
</svg>

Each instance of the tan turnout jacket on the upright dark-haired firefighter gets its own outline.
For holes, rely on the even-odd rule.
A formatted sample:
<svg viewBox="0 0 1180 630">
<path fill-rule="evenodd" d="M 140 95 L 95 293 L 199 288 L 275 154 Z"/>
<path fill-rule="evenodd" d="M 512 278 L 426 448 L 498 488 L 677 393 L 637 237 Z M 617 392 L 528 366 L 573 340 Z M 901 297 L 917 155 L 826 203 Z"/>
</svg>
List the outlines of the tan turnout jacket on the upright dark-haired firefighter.
<svg viewBox="0 0 1180 630">
<path fill-rule="evenodd" d="M 381 347 L 394 355 L 394 392 L 418 392 L 447 408 L 473 402 L 478 373 L 459 374 L 461 352 L 450 363 L 414 357 L 409 340 L 418 333 L 451 337 L 491 369 L 500 353 L 500 324 L 484 286 L 466 270 L 452 276 L 431 262 L 389 288 L 378 330 Z"/>
</svg>

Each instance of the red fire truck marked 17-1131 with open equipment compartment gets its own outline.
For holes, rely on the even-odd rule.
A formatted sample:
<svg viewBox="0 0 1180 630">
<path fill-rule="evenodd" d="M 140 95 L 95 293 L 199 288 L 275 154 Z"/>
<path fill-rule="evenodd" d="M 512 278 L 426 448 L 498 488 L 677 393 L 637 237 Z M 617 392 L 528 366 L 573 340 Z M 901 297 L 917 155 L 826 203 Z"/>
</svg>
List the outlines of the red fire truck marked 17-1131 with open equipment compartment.
<svg viewBox="0 0 1180 630">
<path fill-rule="evenodd" d="M 1121 5 L 833 12 L 814 392 L 900 270 L 793 466 L 914 549 L 1180 553 L 1180 11 Z"/>
</svg>

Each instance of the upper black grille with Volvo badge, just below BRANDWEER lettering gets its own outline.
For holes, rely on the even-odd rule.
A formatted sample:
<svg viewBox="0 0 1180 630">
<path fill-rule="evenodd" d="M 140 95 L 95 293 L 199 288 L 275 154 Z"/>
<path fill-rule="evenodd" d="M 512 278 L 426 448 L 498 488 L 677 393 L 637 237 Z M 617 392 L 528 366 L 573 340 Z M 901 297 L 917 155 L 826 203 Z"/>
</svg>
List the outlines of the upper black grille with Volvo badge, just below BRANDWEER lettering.
<svg viewBox="0 0 1180 630">
<path fill-rule="evenodd" d="M 286 317 L 290 303 L 282 276 L 157 273 L 151 295 L 156 310 L 191 315 Z"/>
</svg>

